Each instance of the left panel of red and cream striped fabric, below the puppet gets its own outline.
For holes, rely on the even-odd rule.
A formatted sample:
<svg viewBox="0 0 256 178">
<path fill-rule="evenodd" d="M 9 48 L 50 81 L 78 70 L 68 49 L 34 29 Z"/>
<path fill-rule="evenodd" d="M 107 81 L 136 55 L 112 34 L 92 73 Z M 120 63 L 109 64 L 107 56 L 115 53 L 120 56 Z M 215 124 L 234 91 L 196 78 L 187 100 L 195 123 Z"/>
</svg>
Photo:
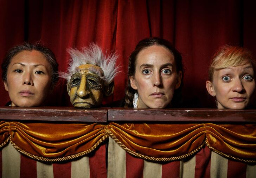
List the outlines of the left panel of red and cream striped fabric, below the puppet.
<svg viewBox="0 0 256 178">
<path fill-rule="evenodd" d="M 0 151 L 2 178 L 94 178 L 107 177 L 105 145 L 100 145 L 90 157 L 65 163 L 42 163 L 21 155 L 8 143 Z"/>
</svg>

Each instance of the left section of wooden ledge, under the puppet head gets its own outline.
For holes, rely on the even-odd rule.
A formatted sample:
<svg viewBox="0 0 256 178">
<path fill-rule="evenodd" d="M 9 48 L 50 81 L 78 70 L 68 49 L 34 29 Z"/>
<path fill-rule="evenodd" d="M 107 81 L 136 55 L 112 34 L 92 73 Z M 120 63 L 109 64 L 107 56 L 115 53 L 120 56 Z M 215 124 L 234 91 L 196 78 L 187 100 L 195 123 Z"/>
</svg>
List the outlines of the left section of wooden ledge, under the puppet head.
<svg viewBox="0 0 256 178">
<path fill-rule="evenodd" d="M 1 120 L 107 122 L 108 108 L 0 107 Z"/>
</svg>

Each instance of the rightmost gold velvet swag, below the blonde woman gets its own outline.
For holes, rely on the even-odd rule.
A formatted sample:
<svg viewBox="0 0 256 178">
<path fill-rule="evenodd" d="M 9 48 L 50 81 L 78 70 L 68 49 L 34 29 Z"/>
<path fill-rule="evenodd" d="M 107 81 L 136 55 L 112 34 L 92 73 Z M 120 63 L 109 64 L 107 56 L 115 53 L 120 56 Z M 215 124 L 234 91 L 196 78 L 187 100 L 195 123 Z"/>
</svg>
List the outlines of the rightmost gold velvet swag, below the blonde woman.
<svg viewBox="0 0 256 178">
<path fill-rule="evenodd" d="M 255 124 L 207 123 L 206 138 L 208 144 L 223 155 L 233 156 L 236 159 L 255 160 L 256 158 Z"/>
</svg>

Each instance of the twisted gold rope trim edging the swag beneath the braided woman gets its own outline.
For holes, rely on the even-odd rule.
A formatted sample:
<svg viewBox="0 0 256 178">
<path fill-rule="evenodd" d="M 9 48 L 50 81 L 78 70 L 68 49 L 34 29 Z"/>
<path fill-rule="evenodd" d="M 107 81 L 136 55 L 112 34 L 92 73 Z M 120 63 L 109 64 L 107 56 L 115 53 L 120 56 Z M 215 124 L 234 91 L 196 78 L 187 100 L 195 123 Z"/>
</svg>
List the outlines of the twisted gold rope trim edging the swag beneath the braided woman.
<svg viewBox="0 0 256 178">
<path fill-rule="evenodd" d="M 120 140 L 110 131 L 110 130 L 106 130 L 106 134 L 108 136 L 110 136 L 111 138 L 113 138 L 116 143 L 118 143 L 125 151 L 127 151 L 129 154 L 133 155 L 133 156 L 137 156 L 139 158 L 142 158 L 142 159 L 147 159 L 147 160 L 150 160 L 150 161 L 175 161 L 177 159 L 182 159 L 182 158 L 186 158 L 188 156 L 191 156 L 193 155 L 195 152 L 197 152 L 198 150 L 200 150 L 203 145 L 204 145 L 204 142 L 195 150 L 193 150 L 192 152 L 188 153 L 188 154 L 185 154 L 185 155 L 181 155 L 181 156 L 176 156 L 176 157 L 171 157 L 171 158 L 157 158 L 157 157 L 151 157 L 151 156 L 146 156 L 146 155 L 141 155 L 139 153 L 136 153 L 132 150 L 130 150 L 129 148 L 127 148 L 122 142 L 120 142 Z"/>
</svg>

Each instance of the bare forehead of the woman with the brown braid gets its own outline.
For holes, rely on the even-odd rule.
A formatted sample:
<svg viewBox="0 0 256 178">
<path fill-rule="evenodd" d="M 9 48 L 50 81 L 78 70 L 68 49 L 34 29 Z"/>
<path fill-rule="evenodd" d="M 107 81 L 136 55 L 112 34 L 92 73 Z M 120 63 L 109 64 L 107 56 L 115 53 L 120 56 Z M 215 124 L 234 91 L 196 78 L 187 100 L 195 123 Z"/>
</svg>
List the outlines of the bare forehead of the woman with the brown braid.
<svg viewBox="0 0 256 178">
<path fill-rule="evenodd" d="M 139 52 L 136 60 L 137 66 L 142 64 L 161 65 L 172 63 L 174 65 L 174 56 L 167 48 L 153 45 Z"/>
</svg>

